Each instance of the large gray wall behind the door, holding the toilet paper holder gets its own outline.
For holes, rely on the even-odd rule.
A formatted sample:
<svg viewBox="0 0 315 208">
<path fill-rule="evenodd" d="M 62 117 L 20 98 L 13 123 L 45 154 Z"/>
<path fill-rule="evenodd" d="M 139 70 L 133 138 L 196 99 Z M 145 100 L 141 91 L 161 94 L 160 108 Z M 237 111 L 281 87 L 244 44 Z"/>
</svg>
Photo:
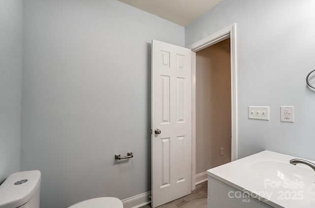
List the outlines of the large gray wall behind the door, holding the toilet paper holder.
<svg viewBox="0 0 315 208">
<path fill-rule="evenodd" d="M 42 208 L 151 190 L 151 40 L 184 34 L 116 0 L 27 0 L 22 169 L 42 172 Z"/>
</svg>

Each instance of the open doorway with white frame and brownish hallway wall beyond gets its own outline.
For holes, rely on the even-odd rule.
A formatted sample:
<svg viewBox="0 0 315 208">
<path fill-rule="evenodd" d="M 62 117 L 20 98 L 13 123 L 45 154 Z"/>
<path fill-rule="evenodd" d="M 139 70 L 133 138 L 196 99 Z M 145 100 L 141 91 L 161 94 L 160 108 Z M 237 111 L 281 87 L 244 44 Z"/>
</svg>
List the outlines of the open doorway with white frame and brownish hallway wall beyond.
<svg viewBox="0 0 315 208">
<path fill-rule="evenodd" d="M 235 30 L 234 23 L 189 46 L 192 51 L 191 190 L 207 181 L 206 170 L 237 159 Z M 220 64 L 224 66 L 222 71 L 205 70 L 218 68 Z"/>
</svg>

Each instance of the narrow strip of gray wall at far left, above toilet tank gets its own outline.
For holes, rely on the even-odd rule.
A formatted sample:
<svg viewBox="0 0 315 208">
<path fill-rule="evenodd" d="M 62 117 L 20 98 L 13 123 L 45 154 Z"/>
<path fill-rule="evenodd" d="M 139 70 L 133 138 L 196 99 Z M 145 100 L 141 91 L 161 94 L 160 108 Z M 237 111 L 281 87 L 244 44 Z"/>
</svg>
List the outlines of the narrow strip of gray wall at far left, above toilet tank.
<svg viewBox="0 0 315 208">
<path fill-rule="evenodd" d="M 20 170 L 22 0 L 0 0 L 0 183 Z"/>
</svg>

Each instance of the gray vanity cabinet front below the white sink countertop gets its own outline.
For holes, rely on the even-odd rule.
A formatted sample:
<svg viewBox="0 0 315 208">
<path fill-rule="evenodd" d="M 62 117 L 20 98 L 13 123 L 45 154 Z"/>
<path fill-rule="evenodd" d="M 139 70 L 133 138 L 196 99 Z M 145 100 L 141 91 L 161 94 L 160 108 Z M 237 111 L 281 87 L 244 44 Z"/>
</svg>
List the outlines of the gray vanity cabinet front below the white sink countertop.
<svg viewBox="0 0 315 208">
<path fill-rule="evenodd" d="M 208 208 L 273 208 L 224 182 L 208 176 Z"/>
</svg>

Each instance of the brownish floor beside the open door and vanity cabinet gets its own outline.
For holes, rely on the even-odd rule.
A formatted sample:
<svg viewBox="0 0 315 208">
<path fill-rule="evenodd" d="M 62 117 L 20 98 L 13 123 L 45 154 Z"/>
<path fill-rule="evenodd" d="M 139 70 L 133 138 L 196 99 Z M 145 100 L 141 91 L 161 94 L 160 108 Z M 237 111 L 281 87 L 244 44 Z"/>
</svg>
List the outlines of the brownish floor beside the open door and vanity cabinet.
<svg viewBox="0 0 315 208">
<path fill-rule="evenodd" d="M 196 185 L 196 189 L 191 194 L 169 202 L 158 208 L 207 208 L 207 187 L 208 183 L 203 182 Z M 141 208 L 151 208 L 151 205 L 146 205 Z"/>
</svg>

